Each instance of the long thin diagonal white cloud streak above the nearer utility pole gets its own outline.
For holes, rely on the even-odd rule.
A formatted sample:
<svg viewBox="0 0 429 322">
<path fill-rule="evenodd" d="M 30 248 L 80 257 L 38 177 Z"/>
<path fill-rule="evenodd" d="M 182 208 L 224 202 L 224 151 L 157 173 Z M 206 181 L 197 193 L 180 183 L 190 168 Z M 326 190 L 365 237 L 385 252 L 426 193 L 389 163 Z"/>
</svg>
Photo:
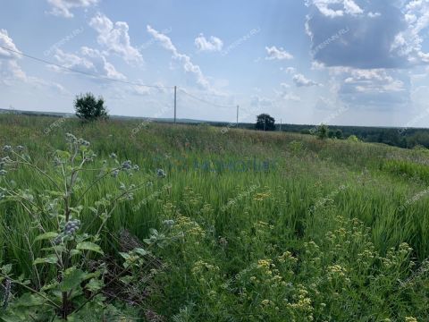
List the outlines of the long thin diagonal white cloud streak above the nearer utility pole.
<svg viewBox="0 0 429 322">
<path fill-rule="evenodd" d="M 172 39 L 164 35 L 162 32 L 159 32 L 153 29 L 151 26 L 147 26 L 147 32 L 158 41 L 164 49 L 172 53 L 172 57 L 177 59 L 183 64 L 183 69 L 185 72 L 193 75 L 195 81 L 201 89 L 206 89 L 213 91 L 210 82 L 207 80 L 206 76 L 201 71 L 201 68 L 197 64 L 193 64 L 190 60 L 189 55 L 181 54 L 177 48 L 172 44 Z"/>
</svg>

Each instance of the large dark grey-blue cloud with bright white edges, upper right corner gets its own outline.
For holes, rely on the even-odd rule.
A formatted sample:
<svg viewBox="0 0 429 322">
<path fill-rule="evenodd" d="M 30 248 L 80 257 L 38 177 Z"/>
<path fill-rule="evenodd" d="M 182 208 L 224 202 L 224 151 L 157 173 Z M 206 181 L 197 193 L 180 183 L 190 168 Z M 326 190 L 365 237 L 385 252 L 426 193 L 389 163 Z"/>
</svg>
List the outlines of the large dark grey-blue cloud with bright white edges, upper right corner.
<svg viewBox="0 0 429 322">
<path fill-rule="evenodd" d="M 310 14 L 306 29 L 316 61 L 326 66 L 357 69 L 408 68 L 429 63 L 429 54 L 421 50 L 422 35 L 429 25 L 427 0 L 359 4 L 307 0 Z M 328 39 L 332 41 L 327 42 Z"/>
</svg>

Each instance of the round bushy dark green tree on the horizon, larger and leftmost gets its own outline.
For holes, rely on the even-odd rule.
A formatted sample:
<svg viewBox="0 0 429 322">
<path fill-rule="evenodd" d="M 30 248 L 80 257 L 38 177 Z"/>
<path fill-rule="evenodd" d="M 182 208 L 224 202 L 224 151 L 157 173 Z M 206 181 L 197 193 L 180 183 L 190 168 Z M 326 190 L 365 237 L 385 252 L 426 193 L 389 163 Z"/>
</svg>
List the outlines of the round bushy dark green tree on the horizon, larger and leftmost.
<svg viewBox="0 0 429 322">
<path fill-rule="evenodd" d="M 96 98 L 92 93 L 78 95 L 74 100 L 74 108 L 81 120 L 95 121 L 108 117 L 104 98 Z"/>
</svg>

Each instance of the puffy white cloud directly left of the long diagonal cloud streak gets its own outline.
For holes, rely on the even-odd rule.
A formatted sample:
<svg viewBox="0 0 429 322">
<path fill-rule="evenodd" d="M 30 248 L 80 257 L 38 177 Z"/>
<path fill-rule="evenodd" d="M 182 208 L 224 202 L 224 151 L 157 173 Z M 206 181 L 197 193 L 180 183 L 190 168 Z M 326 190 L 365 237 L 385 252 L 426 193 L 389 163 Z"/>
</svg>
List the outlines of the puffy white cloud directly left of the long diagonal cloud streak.
<svg viewBox="0 0 429 322">
<path fill-rule="evenodd" d="M 97 31 L 97 42 L 100 46 L 105 47 L 107 53 L 114 53 L 122 56 L 129 64 L 141 64 L 143 56 L 139 49 L 132 47 L 130 44 L 129 26 L 127 22 L 113 22 L 103 13 L 97 13 L 89 26 Z"/>
</svg>

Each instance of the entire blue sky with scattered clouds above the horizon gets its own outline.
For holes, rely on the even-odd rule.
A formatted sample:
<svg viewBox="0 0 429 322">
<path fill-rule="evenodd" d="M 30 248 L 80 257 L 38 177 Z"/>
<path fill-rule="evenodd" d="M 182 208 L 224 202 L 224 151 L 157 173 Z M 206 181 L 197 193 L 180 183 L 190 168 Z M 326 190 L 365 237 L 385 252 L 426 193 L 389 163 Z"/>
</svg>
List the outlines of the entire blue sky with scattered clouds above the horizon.
<svg viewBox="0 0 429 322">
<path fill-rule="evenodd" d="M 429 124 L 429 0 L 1 5 L 0 108 L 71 113 L 91 91 L 111 114 L 172 117 L 177 86 L 180 118 Z"/>
</svg>

